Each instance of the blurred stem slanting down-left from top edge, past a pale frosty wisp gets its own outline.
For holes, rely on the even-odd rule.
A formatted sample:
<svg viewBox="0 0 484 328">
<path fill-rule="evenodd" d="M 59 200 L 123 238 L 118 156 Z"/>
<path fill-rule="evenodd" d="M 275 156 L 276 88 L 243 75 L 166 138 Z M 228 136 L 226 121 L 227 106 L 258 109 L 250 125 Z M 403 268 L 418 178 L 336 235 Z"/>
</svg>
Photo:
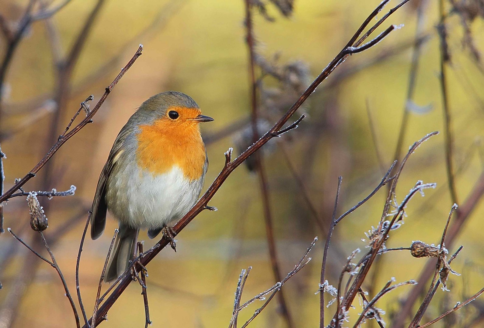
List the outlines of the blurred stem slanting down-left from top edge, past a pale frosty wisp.
<svg viewBox="0 0 484 328">
<path fill-rule="evenodd" d="M 423 31 L 423 25 L 425 23 L 424 21 L 424 9 L 425 9 L 425 1 L 421 1 L 418 4 L 417 8 L 417 27 L 415 29 L 415 41 L 413 43 L 413 49 L 412 49 L 412 60 L 410 62 L 410 72 L 408 75 L 408 87 L 407 87 L 407 99 L 405 100 L 405 105 L 403 109 L 403 117 L 402 117 L 402 123 L 400 126 L 400 131 L 398 132 L 398 140 L 396 143 L 395 147 L 395 154 L 393 155 L 393 158 L 399 160 L 400 159 L 400 154 L 402 152 L 402 147 L 403 147 L 403 142 L 405 140 L 405 133 L 407 132 L 407 126 L 408 126 L 408 116 L 410 114 L 409 112 L 409 106 L 408 102 L 413 100 L 413 95 L 415 93 L 415 87 L 416 87 L 416 81 L 417 81 L 417 72 L 419 69 L 419 60 L 420 60 L 420 55 L 422 53 L 422 46 L 423 46 L 423 41 L 420 38 L 422 35 Z"/>
</svg>

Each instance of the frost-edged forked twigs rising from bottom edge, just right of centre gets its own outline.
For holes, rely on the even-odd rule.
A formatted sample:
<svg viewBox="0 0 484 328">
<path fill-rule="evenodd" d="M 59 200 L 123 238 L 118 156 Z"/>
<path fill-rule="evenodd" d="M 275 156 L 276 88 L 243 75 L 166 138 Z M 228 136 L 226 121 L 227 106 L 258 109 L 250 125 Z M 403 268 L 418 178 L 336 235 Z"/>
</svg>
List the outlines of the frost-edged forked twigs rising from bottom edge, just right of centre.
<svg viewBox="0 0 484 328">
<path fill-rule="evenodd" d="M 249 320 L 247 320 L 243 325 L 242 325 L 242 328 L 245 328 L 247 327 L 247 325 L 249 325 L 252 320 L 254 320 L 256 318 L 256 316 L 258 314 L 260 314 L 262 312 L 262 310 L 264 310 L 264 308 L 267 306 L 267 304 L 269 304 L 269 302 L 272 300 L 272 298 L 275 296 L 275 294 L 277 294 L 278 291 L 280 291 L 281 287 L 287 282 L 287 280 L 289 280 L 292 276 L 294 276 L 296 273 L 298 273 L 302 268 L 304 268 L 304 266 L 306 264 L 309 263 L 309 261 L 311 261 L 311 257 L 307 257 L 308 253 L 311 251 L 311 249 L 313 248 L 314 244 L 318 241 L 318 237 L 315 237 L 313 242 L 311 242 L 311 245 L 309 245 L 309 247 L 307 248 L 306 252 L 304 253 L 304 255 L 301 257 L 301 259 L 298 261 L 298 263 L 296 263 L 296 265 L 294 266 L 294 268 L 289 271 L 289 273 L 287 273 L 287 276 L 286 278 L 284 278 L 283 280 L 281 280 L 280 282 L 277 282 L 275 285 L 273 285 L 272 287 L 270 287 L 269 289 L 263 291 L 262 293 L 259 293 L 257 294 L 256 296 L 254 296 L 252 299 L 249 299 L 248 301 L 246 301 L 245 303 L 243 303 L 242 305 L 240 305 L 238 308 L 235 308 L 234 306 L 234 313 L 232 314 L 232 318 L 230 319 L 230 323 L 228 325 L 229 328 L 231 327 L 234 327 L 234 322 L 235 320 L 237 320 L 237 315 L 239 314 L 239 312 L 244 309 L 245 307 L 247 307 L 249 304 L 252 304 L 253 302 L 255 302 L 257 299 L 259 300 L 265 300 L 264 304 L 258 308 L 254 314 L 249 318 Z M 242 271 L 243 272 L 243 271 Z M 244 277 L 246 279 L 246 276 L 247 276 L 247 273 L 245 273 Z M 242 273 L 239 277 L 239 282 L 242 280 Z M 242 285 L 245 284 L 245 281 L 242 280 Z M 242 286 L 241 286 L 242 287 Z M 239 288 L 238 288 L 239 289 Z M 241 292 L 240 294 L 242 294 L 242 289 L 241 289 Z M 271 294 L 267 299 L 265 298 L 266 295 L 268 294 Z M 237 296 L 238 296 L 238 293 L 236 293 L 236 299 L 235 299 L 235 302 L 234 302 L 234 305 L 235 303 L 238 301 L 237 300 Z M 239 300 L 240 302 L 240 300 Z"/>
</svg>

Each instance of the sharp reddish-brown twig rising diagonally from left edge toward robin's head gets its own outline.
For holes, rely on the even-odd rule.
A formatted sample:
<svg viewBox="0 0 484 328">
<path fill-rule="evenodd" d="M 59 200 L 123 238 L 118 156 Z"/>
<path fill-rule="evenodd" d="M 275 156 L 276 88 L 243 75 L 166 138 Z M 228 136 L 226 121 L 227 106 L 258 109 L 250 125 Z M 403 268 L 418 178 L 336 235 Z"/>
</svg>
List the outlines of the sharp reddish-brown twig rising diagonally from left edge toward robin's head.
<svg viewBox="0 0 484 328">
<path fill-rule="evenodd" d="M 64 136 L 61 136 L 58 141 L 50 148 L 50 150 L 47 152 L 44 158 L 29 172 L 27 173 L 22 179 L 20 179 L 15 185 L 13 185 L 9 190 L 7 190 L 3 195 L 0 196 L 0 202 L 7 200 L 12 196 L 15 191 L 18 190 L 21 186 L 25 185 L 27 181 L 29 181 L 31 178 L 35 176 L 35 174 L 49 161 L 49 159 L 61 148 L 61 146 L 69 139 L 71 139 L 81 128 L 84 128 L 86 125 L 91 123 L 91 118 L 94 116 L 94 114 L 97 113 L 101 105 L 104 103 L 106 100 L 107 96 L 109 96 L 109 93 L 111 93 L 112 89 L 118 84 L 119 80 L 121 80 L 121 77 L 126 73 L 126 71 L 129 70 L 129 68 L 133 65 L 133 63 L 136 61 L 136 59 L 141 56 L 141 52 L 143 51 L 143 46 L 140 45 L 138 50 L 136 51 L 135 55 L 130 59 L 130 61 L 124 66 L 123 69 L 121 69 L 121 72 L 118 74 L 118 76 L 114 79 L 114 81 L 106 87 L 106 91 L 104 92 L 103 96 L 99 99 L 99 101 L 96 103 L 96 106 L 91 110 L 91 112 L 86 115 L 86 117 L 79 123 L 77 124 L 74 128 L 72 128 L 67 134 Z"/>
</svg>

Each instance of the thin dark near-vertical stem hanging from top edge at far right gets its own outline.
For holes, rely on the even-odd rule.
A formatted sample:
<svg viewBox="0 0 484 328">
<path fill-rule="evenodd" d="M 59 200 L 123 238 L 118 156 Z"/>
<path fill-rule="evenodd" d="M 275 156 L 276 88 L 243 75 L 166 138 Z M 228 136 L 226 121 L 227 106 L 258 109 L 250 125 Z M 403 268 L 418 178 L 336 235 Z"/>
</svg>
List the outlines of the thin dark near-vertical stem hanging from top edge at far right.
<svg viewBox="0 0 484 328">
<path fill-rule="evenodd" d="M 439 0 L 439 37 L 440 37 L 440 92 L 442 94 L 442 107 L 444 111 L 444 130 L 445 130 L 445 161 L 447 168 L 447 180 L 449 184 L 449 192 L 454 203 L 458 204 L 457 191 L 455 189 L 454 180 L 454 141 L 452 134 L 452 122 L 449 105 L 449 93 L 447 86 L 447 69 L 450 62 L 449 49 L 447 45 L 447 31 L 445 28 L 445 10 L 444 1 Z"/>
</svg>

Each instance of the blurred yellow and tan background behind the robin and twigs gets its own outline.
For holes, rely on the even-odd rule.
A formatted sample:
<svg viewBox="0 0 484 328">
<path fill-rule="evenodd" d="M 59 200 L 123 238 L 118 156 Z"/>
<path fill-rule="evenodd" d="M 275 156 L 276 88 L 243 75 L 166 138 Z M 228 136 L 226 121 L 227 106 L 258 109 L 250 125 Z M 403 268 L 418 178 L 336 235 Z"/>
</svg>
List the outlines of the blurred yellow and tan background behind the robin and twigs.
<svg viewBox="0 0 484 328">
<path fill-rule="evenodd" d="M 1 0 L 0 13 L 15 22 L 27 2 Z M 64 51 L 72 45 L 95 2 L 72 0 L 50 19 L 58 29 Z M 413 99 L 422 108 L 427 105 L 432 108 L 423 114 L 410 112 L 403 151 L 426 133 L 443 131 L 438 78 L 439 38 L 435 28 L 439 16 L 435 1 L 426 2 L 422 30 L 423 34 L 429 34 L 429 38 L 422 46 Z M 368 0 L 296 0 L 290 18 L 283 17 L 274 6 L 268 5 L 269 14 L 275 17 L 275 22 L 266 21 L 254 11 L 257 52 L 267 58 L 280 53 L 281 63 L 301 60 L 309 67 L 312 81 L 378 3 Z M 392 5 L 396 3 L 391 1 Z M 410 1 L 383 24 L 384 28 L 389 24 L 404 24 L 402 29 L 392 32 L 376 47 L 349 57 L 319 86 L 305 108 L 309 117 L 294 134 L 282 136 L 284 140 L 281 141 L 272 140 L 275 147 L 265 157 L 274 233 L 284 276 L 313 238 L 319 237 L 311 254 L 313 260 L 283 287 L 297 327 L 316 327 L 319 322 L 319 296 L 315 292 L 318 290 L 326 232 L 319 231 L 314 225 L 301 190 L 277 144 L 284 143 L 290 152 L 290 161 L 302 177 L 312 203 L 326 220 L 333 211 L 339 175 L 343 176 L 340 214 L 373 190 L 394 159 L 407 97 L 417 4 L 417 1 Z M 104 88 L 135 53 L 138 43 L 144 45 L 144 52 L 94 116 L 94 123 L 69 140 L 53 158 L 55 175 L 47 190 L 53 187 L 66 190 L 70 185 L 76 185 L 75 196 L 41 199 L 42 205 L 49 203 L 46 213 L 49 228 L 45 231 L 47 241 L 55 238 L 52 234 L 64 222 L 83 214 L 53 246 L 73 297 L 76 292 L 77 249 L 99 173 L 117 133 L 137 106 L 158 92 L 184 92 L 197 101 L 204 114 L 215 118 L 213 123 L 202 127 L 204 138 L 211 138 L 230 124 L 244 122 L 249 117 L 248 59 L 243 20 L 242 0 L 180 0 L 169 3 L 117 0 L 106 1 L 100 9 L 74 69 L 71 93 L 67 106 L 61 109 L 61 123 L 56 136 L 70 121 L 81 101 L 90 94 L 94 94 L 95 101 L 99 99 Z M 483 22 L 478 18 L 471 26 L 478 45 L 484 41 Z M 448 19 L 448 30 L 452 54 L 449 94 L 454 166 L 462 167 L 456 174 L 456 188 L 459 201 L 463 203 L 483 169 L 484 75 L 476 68 L 469 50 L 462 46 L 463 32 L 458 16 Z M 2 51 L 6 47 L 3 41 Z M 378 56 L 381 58 L 372 62 Z M 113 57 L 119 58 L 113 61 Z M 3 90 L 0 131 L 7 135 L 1 141 L 1 149 L 7 155 L 4 160 L 6 188 L 13 185 L 15 178 L 30 171 L 51 144 L 46 139 L 52 120 L 46 100 L 53 97 L 58 87 L 52 63 L 45 22 L 34 22 L 18 46 Z M 351 69 L 365 64 L 368 67 L 349 74 Z M 338 74 L 345 72 L 349 74 L 347 77 L 337 78 Z M 274 84 L 274 81 L 269 81 L 269 84 Z M 370 133 L 367 105 L 381 154 L 381 166 Z M 205 188 L 222 169 L 223 154 L 228 147 L 234 146 L 237 133 L 235 131 L 207 142 L 210 166 Z M 391 233 L 388 247 L 408 247 L 415 240 L 427 243 L 440 241 L 452 206 L 447 188 L 444 146 L 441 133 L 424 143 L 410 157 L 397 190 L 398 200 L 403 199 L 417 180 L 436 182 L 438 187 L 426 190 L 425 197 L 418 195 L 410 201 L 405 225 Z M 240 149 L 236 152 L 240 153 Z M 43 172 L 41 170 L 24 189 L 38 190 Z M 330 284 L 337 285 L 337 274 L 351 251 L 357 247 L 364 248 L 365 243 L 361 239 L 365 238 L 364 232 L 378 224 L 385 190 L 385 187 L 382 188 L 336 227 L 333 248 L 329 253 Z M 218 211 L 201 213 L 182 231 L 177 238 L 177 253 L 165 249 L 148 266 L 147 285 L 153 327 L 227 327 L 237 279 L 241 269 L 249 265 L 253 266 L 253 270 L 242 301 L 274 284 L 257 175 L 245 167 L 238 168 L 210 205 L 216 206 Z M 481 201 L 450 250 L 452 253 L 456 245 L 464 246 L 453 263 L 453 269 L 464 274 L 450 278 L 452 293 L 447 293 L 447 306 L 440 305 L 445 293 L 439 290 L 423 322 L 438 316 L 442 310 L 482 287 L 483 214 Z M 38 238 L 30 230 L 28 222 L 26 201 L 20 197 L 9 201 L 5 206 L 5 228 L 11 227 L 27 241 Z M 116 227 L 117 223 L 108 218 L 102 238 L 96 241 L 87 238 L 84 245 L 80 288 L 88 316 L 92 313 L 99 275 Z M 147 240 L 144 232 L 140 238 L 146 239 L 145 249 L 154 243 Z M 14 257 L 7 260 L 9 254 L 14 254 Z M 8 232 L 0 236 L 2 304 L 8 303 L 8 295 L 12 292 L 9 288 L 23 270 L 27 258 L 36 261 Z M 375 288 L 378 290 L 391 277 L 398 282 L 417 278 L 424 263 L 424 259 L 413 258 L 404 251 L 383 257 Z M 27 288 L 26 294 L 12 327 L 74 326 L 72 310 L 63 296 L 59 277 L 51 267 L 41 263 L 34 278 L 24 287 Z M 397 299 L 410 290 L 408 286 L 400 288 L 378 303 L 387 311 L 387 322 L 391 321 L 388 315 L 397 309 Z M 132 283 L 109 311 L 108 321 L 101 326 L 142 327 L 144 310 L 140 293 L 140 286 Z M 261 304 L 258 301 L 244 309 L 239 322 L 248 319 Z M 481 306 L 482 309 L 482 304 L 476 301 L 476 304 L 469 305 L 468 310 L 461 311 L 475 313 L 477 310 L 473 306 Z M 332 316 L 333 312 L 334 306 L 331 306 L 327 315 Z M 360 309 L 357 309 L 351 315 L 359 312 Z M 251 327 L 285 327 L 277 312 L 276 299 Z"/>
</svg>

